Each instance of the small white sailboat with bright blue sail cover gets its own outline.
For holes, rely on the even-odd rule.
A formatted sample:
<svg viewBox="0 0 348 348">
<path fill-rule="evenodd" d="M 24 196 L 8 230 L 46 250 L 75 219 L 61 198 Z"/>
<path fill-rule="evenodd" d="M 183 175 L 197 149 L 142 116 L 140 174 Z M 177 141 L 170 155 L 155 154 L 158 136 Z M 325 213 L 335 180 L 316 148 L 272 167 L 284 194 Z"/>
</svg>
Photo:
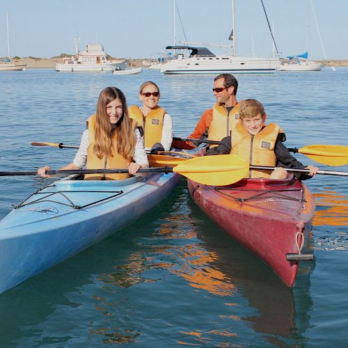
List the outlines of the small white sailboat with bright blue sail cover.
<svg viewBox="0 0 348 348">
<path fill-rule="evenodd" d="M 284 59 L 280 60 L 279 71 L 321 71 L 324 68 L 324 63 L 317 63 L 315 61 L 308 61 L 308 51 L 309 51 L 309 5 L 310 0 L 307 0 L 307 51 L 303 54 L 298 54 L 297 56 L 287 56 L 287 61 Z M 313 6 L 312 6 L 313 9 Z M 314 10 L 313 10 L 314 15 Z M 318 31 L 319 33 L 319 31 Z M 320 38 L 320 33 L 319 33 Z M 320 38 L 320 41 L 322 39 Z M 323 47 L 324 51 L 324 47 Z M 324 51 L 325 55 L 325 51 Z"/>
</svg>

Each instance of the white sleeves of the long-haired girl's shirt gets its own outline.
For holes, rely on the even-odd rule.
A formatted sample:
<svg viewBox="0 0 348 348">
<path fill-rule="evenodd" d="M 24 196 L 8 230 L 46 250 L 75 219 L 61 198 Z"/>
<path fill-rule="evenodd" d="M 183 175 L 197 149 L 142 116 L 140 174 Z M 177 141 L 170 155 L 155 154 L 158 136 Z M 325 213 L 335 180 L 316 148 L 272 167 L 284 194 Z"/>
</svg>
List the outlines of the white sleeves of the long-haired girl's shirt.
<svg viewBox="0 0 348 348">
<path fill-rule="evenodd" d="M 137 164 L 149 164 L 148 156 L 145 153 L 143 137 L 141 136 L 139 129 L 135 129 L 134 132 L 136 135 L 136 145 L 133 159 Z M 88 145 L 89 136 L 88 129 L 86 129 L 84 133 L 82 133 L 80 147 L 73 161 L 75 166 L 78 166 L 79 168 L 84 168 L 84 166 L 86 166 Z"/>
</svg>

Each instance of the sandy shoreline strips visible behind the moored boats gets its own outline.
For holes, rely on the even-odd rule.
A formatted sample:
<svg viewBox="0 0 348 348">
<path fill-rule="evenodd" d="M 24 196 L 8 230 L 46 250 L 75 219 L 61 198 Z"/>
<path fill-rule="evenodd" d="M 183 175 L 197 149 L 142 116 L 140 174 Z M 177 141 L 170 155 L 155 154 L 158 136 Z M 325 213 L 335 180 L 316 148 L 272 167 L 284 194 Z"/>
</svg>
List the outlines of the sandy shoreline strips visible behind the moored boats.
<svg viewBox="0 0 348 348">
<path fill-rule="evenodd" d="M 121 59 L 121 58 L 113 58 Z M 146 58 L 142 59 L 132 59 L 132 66 L 142 67 L 143 61 Z M 18 63 L 26 63 L 26 68 L 28 69 L 54 69 L 56 68 L 56 63 L 62 63 L 62 59 L 58 58 L 21 58 L 14 60 Z M 328 60 L 328 61 L 317 61 L 318 63 L 325 63 L 328 67 L 347 67 L 348 60 Z"/>
</svg>

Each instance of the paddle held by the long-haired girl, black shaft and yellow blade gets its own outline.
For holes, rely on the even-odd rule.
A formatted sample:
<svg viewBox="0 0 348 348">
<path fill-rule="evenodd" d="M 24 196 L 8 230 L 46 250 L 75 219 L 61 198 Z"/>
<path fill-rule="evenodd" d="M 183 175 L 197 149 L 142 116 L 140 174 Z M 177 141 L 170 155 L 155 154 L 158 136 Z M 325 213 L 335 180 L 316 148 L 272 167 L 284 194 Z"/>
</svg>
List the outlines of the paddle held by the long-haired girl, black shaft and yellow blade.
<svg viewBox="0 0 348 348">
<path fill-rule="evenodd" d="M 143 168 L 138 173 L 178 173 L 206 185 L 227 185 L 237 182 L 248 174 L 246 161 L 234 155 L 216 155 L 187 159 L 174 168 Z M 128 169 L 79 169 L 49 171 L 47 174 L 93 174 L 93 173 L 128 173 Z M 35 171 L 0 172 L 0 176 L 37 175 Z"/>
</svg>

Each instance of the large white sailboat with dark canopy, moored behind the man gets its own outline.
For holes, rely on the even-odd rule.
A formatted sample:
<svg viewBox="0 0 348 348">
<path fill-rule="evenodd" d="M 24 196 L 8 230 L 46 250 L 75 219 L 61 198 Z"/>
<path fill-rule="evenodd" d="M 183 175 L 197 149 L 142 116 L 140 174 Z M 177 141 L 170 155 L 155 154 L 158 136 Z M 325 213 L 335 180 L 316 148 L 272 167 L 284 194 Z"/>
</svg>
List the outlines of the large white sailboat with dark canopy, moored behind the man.
<svg viewBox="0 0 348 348">
<path fill-rule="evenodd" d="M 215 55 L 207 47 L 218 46 L 230 47 L 224 45 L 209 45 L 199 42 L 182 42 L 186 45 L 168 46 L 166 49 L 172 49 L 174 54 L 172 58 L 161 67 L 164 74 L 221 74 L 228 72 L 236 73 L 269 73 L 276 72 L 279 66 L 279 58 L 261 58 L 237 56 L 235 28 L 235 0 L 232 0 L 232 33 L 230 40 L 233 41 L 232 54 Z M 200 47 L 188 46 L 200 45 Z"/>
</svg>

